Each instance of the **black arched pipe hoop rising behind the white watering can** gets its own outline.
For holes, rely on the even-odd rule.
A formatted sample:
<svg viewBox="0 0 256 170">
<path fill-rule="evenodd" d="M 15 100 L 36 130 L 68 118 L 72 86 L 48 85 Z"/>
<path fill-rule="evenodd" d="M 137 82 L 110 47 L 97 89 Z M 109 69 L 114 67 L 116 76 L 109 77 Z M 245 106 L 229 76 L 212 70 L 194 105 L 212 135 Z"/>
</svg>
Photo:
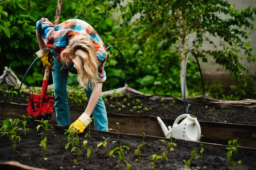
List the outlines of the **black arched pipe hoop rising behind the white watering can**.
<svg viewBox="0 0 256 170">
<path fill-rule="evenodd" d="M 187 107 L 186 107 L 186 66 L 187 66 L 187 62 L 188 62 L 190 53 L 194 55 L 194 57 L 196 59 L 196 62 L 198 64 L 199 72 L 200 72 L 200 75 L 201 75 L 201 82 L 202 82 L 202 86 L 203 86 L 203 92 L 204 92 L 204 95 L 205 95 L 204 80 L 203 80 L 200 64 L 198 62 L 198 58 L 196 57 L 196 55 L 193 51 L 189 51 L 189 53 L 187 54 L 187 57 L 186 57 L 185 70 L 184 70 L 184 82 L 183 82 L 184 113 L 188 113 L 189 112 L 189 107 L 191 106 L 190 104 L 188 104 Z"/>
</svg>

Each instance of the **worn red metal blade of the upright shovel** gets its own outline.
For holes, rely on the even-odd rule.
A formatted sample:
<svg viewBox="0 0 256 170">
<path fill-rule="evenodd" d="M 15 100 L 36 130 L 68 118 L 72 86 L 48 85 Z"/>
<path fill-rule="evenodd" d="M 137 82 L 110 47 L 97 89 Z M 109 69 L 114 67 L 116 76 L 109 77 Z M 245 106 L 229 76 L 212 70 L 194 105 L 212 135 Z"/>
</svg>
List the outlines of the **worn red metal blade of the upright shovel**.
<svg viewBox="0 0 256 170">
<path fill-rule="evenodd" d="M 50 120 L 52 117 L 55 96 L 44 96 L 41 94 L 30 94 L 26 111 L 27 116 L 36 120 Z"/>
</svg>

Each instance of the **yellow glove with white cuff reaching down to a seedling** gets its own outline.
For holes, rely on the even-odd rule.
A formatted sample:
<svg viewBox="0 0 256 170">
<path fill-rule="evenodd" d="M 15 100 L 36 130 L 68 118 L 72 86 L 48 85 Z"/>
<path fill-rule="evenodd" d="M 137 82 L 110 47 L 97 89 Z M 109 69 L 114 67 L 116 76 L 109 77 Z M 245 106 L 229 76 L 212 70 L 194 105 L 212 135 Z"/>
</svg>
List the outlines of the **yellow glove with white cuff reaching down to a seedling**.
<svg viewBox="0 0 256 170">
<path fill-rule="evenodd" d="M 73 127 L 75 127 L 78 133 L 83 133 L 84 129 L 90 124 L 90 122 L 90 116 L 86 113 L 83 113 L 74 123 L 70 125 L 68 130 L 71 130 Z"/>
</svg>

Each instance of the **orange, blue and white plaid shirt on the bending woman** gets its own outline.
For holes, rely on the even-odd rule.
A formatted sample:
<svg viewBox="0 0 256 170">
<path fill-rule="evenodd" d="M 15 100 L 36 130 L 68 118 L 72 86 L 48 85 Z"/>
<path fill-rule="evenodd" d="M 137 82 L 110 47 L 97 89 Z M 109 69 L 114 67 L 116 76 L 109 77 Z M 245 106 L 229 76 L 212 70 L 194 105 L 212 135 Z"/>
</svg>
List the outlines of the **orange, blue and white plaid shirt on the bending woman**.
<svg viewBox="0 0 256 170">
<path fill-rule="evenodd" d="M 90 37 L 97 51 L 99 82 L 105 81 L 104 63 L 108 54 L 104 43 L 90 24 L 83 20 L 70 19 L 54 26 L 47 18 L 41 18 L 36 25 L 36 31 L 58 61 L 61 60 L 61 52 L 67 47 L 73 35 L 79 33 Z"/>
</svg>

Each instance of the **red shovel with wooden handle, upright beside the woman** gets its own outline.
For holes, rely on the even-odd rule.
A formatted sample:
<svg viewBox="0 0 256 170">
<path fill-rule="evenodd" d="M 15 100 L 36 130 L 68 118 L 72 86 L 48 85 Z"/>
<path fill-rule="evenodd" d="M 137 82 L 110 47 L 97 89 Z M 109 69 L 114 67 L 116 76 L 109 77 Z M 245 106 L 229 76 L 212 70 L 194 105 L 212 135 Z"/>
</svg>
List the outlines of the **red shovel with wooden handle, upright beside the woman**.
<svg viewBox="0 0 256 170">
<path fill-rule="evenodd" d="M 61 14 L 62 0 L 58 0 L 54 25 L 59 23 Z M 31 116 L 36 120 L 50 120 L 52 117 L 55 96 L 47 95 L 48 79 L 50 74 L 50 68 L 46 67 L 44 71 L 44 80 L 41 94 L 30 94 L 29 103 L 26 111 L 27 116 Z"/>
</svg>

